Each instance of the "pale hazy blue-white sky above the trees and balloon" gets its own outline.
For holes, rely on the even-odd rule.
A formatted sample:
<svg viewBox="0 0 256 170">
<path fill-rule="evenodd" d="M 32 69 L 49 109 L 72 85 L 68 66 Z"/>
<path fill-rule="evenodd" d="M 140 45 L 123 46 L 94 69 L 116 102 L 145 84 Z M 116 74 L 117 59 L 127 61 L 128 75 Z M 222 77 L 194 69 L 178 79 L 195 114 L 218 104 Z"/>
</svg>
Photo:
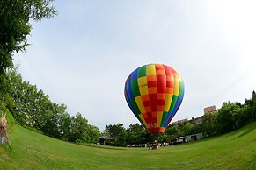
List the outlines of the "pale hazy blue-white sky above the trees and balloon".
<svg viewBox="0 0 256 170">
<path fill-rule="evenodd" d="M 31 21 L 23 79 L 52 102 L 106 124 L 139 123 L 123 94 L 128 74 L 150 63 L 179 72 L 185 96 L 172 121 L 203 108 L 244 103 L 256 89 L 256 2 L 241 0 L 55 0 L 55 18 Z"/>
</svg>

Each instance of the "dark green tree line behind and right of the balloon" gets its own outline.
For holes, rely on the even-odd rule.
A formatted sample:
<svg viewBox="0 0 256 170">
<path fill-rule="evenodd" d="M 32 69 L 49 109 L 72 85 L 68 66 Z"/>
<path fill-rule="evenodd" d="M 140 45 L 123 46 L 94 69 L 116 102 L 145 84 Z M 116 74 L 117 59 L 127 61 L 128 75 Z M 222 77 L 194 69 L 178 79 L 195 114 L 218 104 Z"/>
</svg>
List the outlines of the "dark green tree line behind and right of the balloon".
<svg viewBox="0 0 256 170">
<path fill-rule="evenodd" d="M 177 125 L 169 124 L 162 134 L 148 134 L 141 124 L 130 124 L 125 128 L 123 124 L 106 125 L 103 135 L 109 136 L 107 145 L 125 146 L 158 142 L 173 142 L 181 136 L 202 133 L 204 138 L 221 135 L 234 131 L 245 124 L 256 120 L 256 95 L 252 92 L 245 103 L 223 103 L 221 109 L 206 113 L 200 124 L 191 120 Z"/>
</svg>

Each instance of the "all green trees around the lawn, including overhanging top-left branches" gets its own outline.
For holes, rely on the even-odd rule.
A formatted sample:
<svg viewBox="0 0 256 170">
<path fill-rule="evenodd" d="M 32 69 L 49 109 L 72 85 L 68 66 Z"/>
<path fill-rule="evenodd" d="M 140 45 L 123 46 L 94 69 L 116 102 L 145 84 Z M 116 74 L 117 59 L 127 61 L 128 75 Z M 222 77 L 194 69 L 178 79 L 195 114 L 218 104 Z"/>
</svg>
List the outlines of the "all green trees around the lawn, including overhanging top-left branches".
<svg viewBox="0 0 256 170">
<path fill-rule="evenodd" d="M 52 18 L 56 15 L 54 0 L 4 0 L 0 1 L 0 115 L 6 114 L 9 125 L 22 124 L 32 127 L 55 138 L 72 142 L 97 142 L 99 129 L 88 123 L 80 113 L 70 116 L 64 104 L 53 103 L 42 90 L 23 81 L 20 74 L 13 70 L 13 53 L 26 51 L 30 34 L 30 21 Z M 106 125 L 101 135 L 113 140 L 110 145 L 142 144 L 170 141 L 179 136 L 203 132 L 205 137 L 233 131 L 248 124 L 256 117 L 256 96 L 246 99 L 245 103 L 223 103 L 220 110 L 206 114 L 201 124 L 193 120 L 169 125 L 163 134 L 148 134 L 140 124 Z"/>
</svg>

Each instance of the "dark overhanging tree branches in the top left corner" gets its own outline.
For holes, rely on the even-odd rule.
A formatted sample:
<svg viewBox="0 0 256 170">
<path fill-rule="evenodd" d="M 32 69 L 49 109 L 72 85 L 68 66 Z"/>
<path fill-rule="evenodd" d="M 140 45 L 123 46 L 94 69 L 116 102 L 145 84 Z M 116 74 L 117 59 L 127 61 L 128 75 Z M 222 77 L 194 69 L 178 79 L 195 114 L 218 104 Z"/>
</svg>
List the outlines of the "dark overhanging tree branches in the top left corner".
<svg viewBox="0 0 256 170">
<path fill-rule="evenodd" d="M 13 52 L 25 52 L 26 36 L 31 32 L 30 19 L 40 20 L 56 15 L 49 4 L 54 0 L 1 0 L 0 1 L 0 74 L 12 67 Z M 1 77 L 0 77 L 1 78 Z"/>
</svg>

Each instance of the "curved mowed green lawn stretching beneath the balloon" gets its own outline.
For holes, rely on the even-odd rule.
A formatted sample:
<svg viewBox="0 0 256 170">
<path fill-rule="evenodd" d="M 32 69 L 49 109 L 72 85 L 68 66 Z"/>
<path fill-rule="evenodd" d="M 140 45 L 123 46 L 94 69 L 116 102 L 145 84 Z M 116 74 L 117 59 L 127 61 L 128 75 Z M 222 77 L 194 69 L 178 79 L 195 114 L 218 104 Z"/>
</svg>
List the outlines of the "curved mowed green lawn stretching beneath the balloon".
<svg viewBox="0 0 256 170">
<path fill-rule="evenodd" d="M 75 145 L 15 125 L 0 169 L 256 169 L 256 122 L 216 138 L 161 147 Z"/>
</svg>

